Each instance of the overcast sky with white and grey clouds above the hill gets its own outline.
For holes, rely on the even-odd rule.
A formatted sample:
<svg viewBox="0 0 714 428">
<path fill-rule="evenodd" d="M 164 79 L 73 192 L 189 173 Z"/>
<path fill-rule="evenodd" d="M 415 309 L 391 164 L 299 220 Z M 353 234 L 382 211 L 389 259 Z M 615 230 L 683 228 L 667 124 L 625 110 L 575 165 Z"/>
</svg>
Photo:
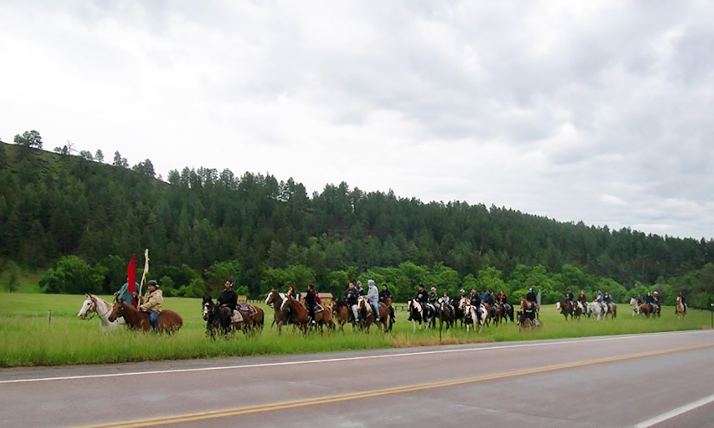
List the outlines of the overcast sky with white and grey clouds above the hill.
<svg viewBox="0 0 714 428">
<path fill-rule="evenodd" d="M 0 138 L 714 238 L 712 1 L 0 0 Z"/>
</svg>

